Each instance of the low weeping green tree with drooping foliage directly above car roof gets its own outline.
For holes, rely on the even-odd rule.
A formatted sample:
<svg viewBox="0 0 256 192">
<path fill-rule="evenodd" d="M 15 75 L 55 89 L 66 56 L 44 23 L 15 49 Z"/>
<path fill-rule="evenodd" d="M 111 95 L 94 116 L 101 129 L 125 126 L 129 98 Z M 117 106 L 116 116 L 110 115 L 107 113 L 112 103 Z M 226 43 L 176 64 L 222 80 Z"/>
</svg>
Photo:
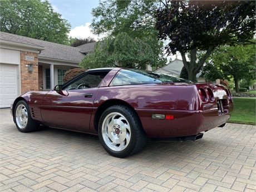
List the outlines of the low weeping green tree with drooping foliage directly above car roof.
<svg viewBox="0 0 256 192">
<path fill-rule="evenodd" d="M 160 42 L 154 38 L 132 38 L 124 32 L 118 33 L 116 37 L 107 36 L 97 42 L 94 52 L 86 55 L 80 66 L 83 68 L 146 68 L 146 65 L 161 67 L 165 65 L 166 58 L 159 56 L 163 50 L 157 43 Z"/>
</svg>

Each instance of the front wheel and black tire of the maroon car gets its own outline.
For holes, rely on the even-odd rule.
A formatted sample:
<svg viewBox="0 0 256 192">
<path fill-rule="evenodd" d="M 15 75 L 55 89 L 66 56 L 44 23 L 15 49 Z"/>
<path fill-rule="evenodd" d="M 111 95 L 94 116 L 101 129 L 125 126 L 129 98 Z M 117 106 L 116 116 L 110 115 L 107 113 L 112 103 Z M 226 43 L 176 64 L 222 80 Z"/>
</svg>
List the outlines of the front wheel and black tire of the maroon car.
<svg viewBox="0 0 256 192">
<path fill-rule="evenodd" d="M 16 127 L 21 132 L 36 131 L 40 126 L 40 124 L 31 118 L 26 101 L 21 100 L 17 103 L 13 116 Z"/>
</svg>

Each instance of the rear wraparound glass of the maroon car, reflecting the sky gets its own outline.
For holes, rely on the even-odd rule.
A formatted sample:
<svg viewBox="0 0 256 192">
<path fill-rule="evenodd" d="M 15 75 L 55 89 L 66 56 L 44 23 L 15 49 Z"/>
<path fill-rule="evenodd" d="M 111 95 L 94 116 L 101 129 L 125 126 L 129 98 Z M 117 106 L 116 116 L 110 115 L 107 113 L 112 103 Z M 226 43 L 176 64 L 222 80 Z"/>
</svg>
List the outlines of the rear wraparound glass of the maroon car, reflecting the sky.
<svg viewBox="0 0 256 192">
<path fill-rule="evenodd" d="M 146 70 L 122 69 L 117 72 L 110 86 L 162 82 L 190 82 L 183 78 Z"/>
</svg>

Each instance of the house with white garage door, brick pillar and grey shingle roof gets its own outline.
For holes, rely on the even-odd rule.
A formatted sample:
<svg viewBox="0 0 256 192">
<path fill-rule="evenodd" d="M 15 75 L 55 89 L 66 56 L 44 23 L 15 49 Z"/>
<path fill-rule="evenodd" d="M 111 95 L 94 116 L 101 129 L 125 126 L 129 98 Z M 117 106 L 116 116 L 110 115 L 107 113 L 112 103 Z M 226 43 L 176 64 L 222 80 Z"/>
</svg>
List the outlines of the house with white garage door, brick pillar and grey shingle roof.
<svg viewBox="0 0 256 192">
<path fill-rule="evenodd" d="M 62 84 L 66 71 L 79 67 L 94 46 L 71 47 L 0 32 L 0 108 L 9 107 L 21 93 Z"/>
</svg>

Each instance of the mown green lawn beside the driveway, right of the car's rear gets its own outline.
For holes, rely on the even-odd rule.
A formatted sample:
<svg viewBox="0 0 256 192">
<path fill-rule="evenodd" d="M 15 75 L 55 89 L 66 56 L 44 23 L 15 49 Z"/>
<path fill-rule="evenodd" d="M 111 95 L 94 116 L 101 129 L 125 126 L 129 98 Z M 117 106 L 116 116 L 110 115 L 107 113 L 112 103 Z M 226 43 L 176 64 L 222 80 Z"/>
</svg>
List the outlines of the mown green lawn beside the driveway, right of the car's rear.
<svg viewBox="0 0 256 192">
<path fill-rule="evenodd" d="M 228 122 L 256 125 L 255 98 L 233 97 L 234 111 Z"/>
</svg>

